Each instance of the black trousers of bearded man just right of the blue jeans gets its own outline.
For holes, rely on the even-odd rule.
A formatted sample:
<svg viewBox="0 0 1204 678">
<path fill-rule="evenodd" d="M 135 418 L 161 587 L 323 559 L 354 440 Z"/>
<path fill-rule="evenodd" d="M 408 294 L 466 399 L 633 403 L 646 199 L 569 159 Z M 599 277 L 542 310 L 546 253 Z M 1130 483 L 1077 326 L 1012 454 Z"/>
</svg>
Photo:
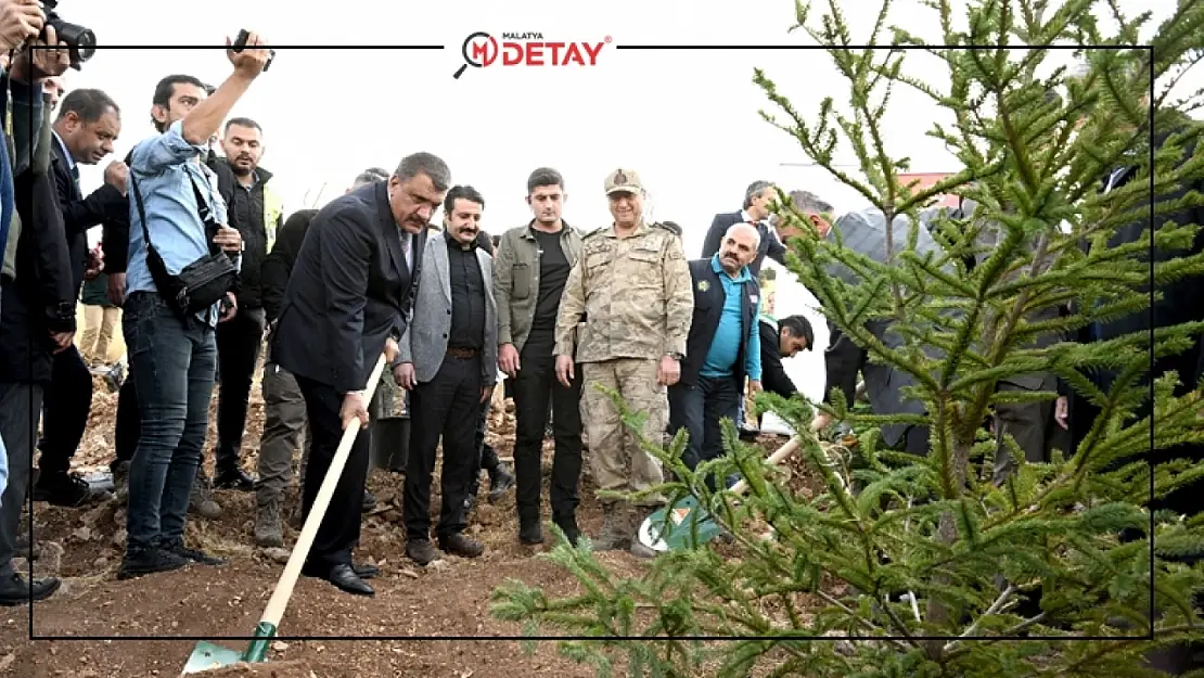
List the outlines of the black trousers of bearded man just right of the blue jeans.
<svg viewBox="0 0 1204 678">
<path fill-rule="evenodd" d="M 264 343 L 264 309 L 240 308 L 234 318 L 218 325 L 217 340 L 222 387 L 216 461 L 220 472 L 238 466 L 238 450 L 247 429 L 250 381 Z"/>
</svg>

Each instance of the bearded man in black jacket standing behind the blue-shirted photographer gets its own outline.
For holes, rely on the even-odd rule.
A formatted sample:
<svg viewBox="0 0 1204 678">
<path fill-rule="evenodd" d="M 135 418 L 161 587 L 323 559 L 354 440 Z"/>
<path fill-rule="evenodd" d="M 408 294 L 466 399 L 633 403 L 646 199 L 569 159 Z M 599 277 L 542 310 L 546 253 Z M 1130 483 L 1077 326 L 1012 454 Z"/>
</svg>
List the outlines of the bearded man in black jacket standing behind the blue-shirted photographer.
<svg viewBox="0 0 1204 678">
<path fill-rule="evenodd" d="M 247 425 L 250 381 L 259 360 L 267 322 L 264 317 L 261 267 L 284 223 L 284 207 L 268 185 L 272 173 L 259 166 L 264 157 L 264 131 L 250 118 L 231 118 L 222 136 L 225 158 L 209 155 L 208 166 L 218 177 L 230 225 L 238 229 L 246 249 L 238 281 L 238 313 L 218 326 L 218 437 L 214 449 L 213 487 L 250 491 L 255 484 L 238 464 Z"/>
</svg>

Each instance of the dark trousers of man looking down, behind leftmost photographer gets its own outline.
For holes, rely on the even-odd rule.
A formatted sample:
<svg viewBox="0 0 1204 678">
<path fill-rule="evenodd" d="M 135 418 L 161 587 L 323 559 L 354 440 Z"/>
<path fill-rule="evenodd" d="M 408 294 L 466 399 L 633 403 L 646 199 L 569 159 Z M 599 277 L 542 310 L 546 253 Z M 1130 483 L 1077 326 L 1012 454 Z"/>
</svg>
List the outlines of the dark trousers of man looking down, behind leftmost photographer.
<svg viewBox="0 0 1204 678">
<path fill-rule="evenodd" d="M 51 383 L 42 402 L 42 473 L 66 473 L 79 448 L 92 409 L 92 372 L 75 344 L 54 355 Z"/>
</svg>

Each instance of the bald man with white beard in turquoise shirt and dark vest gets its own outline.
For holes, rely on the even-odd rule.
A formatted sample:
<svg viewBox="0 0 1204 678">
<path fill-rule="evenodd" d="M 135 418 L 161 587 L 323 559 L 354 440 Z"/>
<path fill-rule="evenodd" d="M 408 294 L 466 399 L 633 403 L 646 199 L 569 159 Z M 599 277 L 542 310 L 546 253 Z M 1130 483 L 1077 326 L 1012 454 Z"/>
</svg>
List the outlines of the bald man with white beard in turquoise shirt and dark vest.
<svg viewBox="0 0 1204 678">
<path fill-rule="evenodd" d="M 690 470 L 725 453 L 720 420 L 739 417 L 744 379 L 761 389 L 761 289 L 749 270 L 760 246 L 757 229 L 738 223 L 724 234 L 719 252 L 690 261 L 694 322 L 681 379 L 669 387 L 669 431 L 689 434 L 683 460 Z M 707 483 L 715 489 L 714 478 Z"/>
</svg>

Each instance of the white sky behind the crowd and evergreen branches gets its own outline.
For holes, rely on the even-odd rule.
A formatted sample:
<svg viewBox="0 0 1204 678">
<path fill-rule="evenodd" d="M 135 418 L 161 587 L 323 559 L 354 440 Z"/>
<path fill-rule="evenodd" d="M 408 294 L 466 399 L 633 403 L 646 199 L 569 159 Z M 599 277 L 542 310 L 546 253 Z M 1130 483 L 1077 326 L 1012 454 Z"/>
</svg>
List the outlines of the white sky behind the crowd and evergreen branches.
<svg viewBox="0 0 1204 678">
<path fill-rule="evenodd" d="M 868 36 L 878 2 L 840 4 L 855 41 Z M 856 194 L 825 170 L 783 166 L 809 159 L 791 137 L 759 116 L 759 110 L 775 116 L 778 111 L 768 107 L 752 83 L 754 67 L 763 69 L 809 120 L 825 96 L 833 96 L 838 105 L 848 101 L 846 82 L 826 53 L 613 48 L 809 45 L 808 36 L 786 33 L 795 20 L 791 0 L 574 2 L 573 16 L 563 12 L 568 4 L 551 0 L 358 0 L 346 6 L 313 4 L 313 11 L 296 0 L 207 0 L 200 5 L 205 13 L 189 16 L 187 22 L 171 20 L 166 5 L 159 0 L 63 0 L 58 11 L 64 19 L 92 28 L 101 46 L 223 45 L 224 36 L 232 39 L 241 28 L 288 46 L 444 46 L 442 51 L 277 52 L 271 70 L 255 81 L 232 114 L 264 126 L 262 166 L 275 172 L 272 184 L 283 194 L 288 212 L 311 206 L 302 204 L 307 191 L 313 200 L 325 184 L 325 202 L 342 194 L 361 170 L 372 165 L 391 170 L 417 151 L 442 155 L 454 182 L 473 184 L 483 193 L 483 225 L 490 232 L 530 219 L 523 200 L 525 183 L 541 165 L 565 175 L 569 195 L 565 218 L 585 229 L 610 220 L 602 193 L 607 173 L 618 166 L 637 170 L 653 195 L 645 213 L 681 224 L 691 257 L 701 252 L 712 217 L 738 210 L 744 188 L 755 179 L 826 195 L 838 211 L 862 206 Z M 184 8 L 178 5 L 177 10 Z M 939 24 L 931 10 L 917 0 L 895 5 L 893 23 L 938 40 Z M 1157 22 L 1170 14 L 1175 0 L 1120 0 L 1120 5 L 1133 14 L 1147 8 Z M 565 41 L 601 41 L 610 35 L 614 42 L 603 48 L 592 69 L 468 69 L 459 81 L 453 79 L 462 64 L 461 43 L 477 30 L 494 35 L 538 31 L 545 40 Z M 948 82 L 940 64 L 925 59 L 913 53 L 905 69 L 938 87 Z M 120 159 L 138 140 L 154 134 L 149 110 L 159 78 L 189 73 L 218 84 L 230 70 L 220 49 L 102 47 L 82 71 L 69 71 L 65 79 L 67 89 L 100 88 L 122 106 L 124 129 L 114 154 Z M 1204 78 L 1197 72 L 1184 89 L 1200 84 Z M 896 90 L 885 129 L 887 145 L 896 157 L 913 159 L 913 171 L 957 169 L 942 145 L 923 135 L 939 114 L 923 96 Z M 108 160 L 83 167 L 85 190 L 100 184 Z M 811 318 L 816 350 L 786 366 L 808 396 L 819 397 L 827 343 L 824 319 L 809 311 L 814 299 L 796 282 L 779 276 L 777 296 L 779 317 L 805 312 Z"/>
</svg>

